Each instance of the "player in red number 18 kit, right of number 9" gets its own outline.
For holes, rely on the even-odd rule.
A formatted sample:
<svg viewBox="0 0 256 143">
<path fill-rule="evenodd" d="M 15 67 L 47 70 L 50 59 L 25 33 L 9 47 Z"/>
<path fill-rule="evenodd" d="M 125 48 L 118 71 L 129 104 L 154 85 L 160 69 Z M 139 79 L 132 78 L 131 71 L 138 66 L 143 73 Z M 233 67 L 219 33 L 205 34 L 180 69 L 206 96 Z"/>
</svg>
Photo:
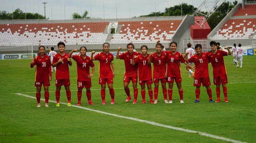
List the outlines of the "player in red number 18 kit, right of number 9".
<svg viewBox="0 0 256 143">
<path fill-rule="evenodd" d="M 168 95 L 169 95 L 169 103 L 173 103 L 173 86 L 174 80 L 177 84 L 179 95 L 180 95 L 180 103 L 184 103 L 183 101 L 183 89 L 181 86 L 181 71 L 180 71 L 180 63 L 184 63 L 191 69 L 195 69 L 188 63 L 186 63 L 182 54 L 177 49 L 177 43 L 170 43 L 170 51 L 167 51 L 167 83 L 169 84 Z"/>
</svg>

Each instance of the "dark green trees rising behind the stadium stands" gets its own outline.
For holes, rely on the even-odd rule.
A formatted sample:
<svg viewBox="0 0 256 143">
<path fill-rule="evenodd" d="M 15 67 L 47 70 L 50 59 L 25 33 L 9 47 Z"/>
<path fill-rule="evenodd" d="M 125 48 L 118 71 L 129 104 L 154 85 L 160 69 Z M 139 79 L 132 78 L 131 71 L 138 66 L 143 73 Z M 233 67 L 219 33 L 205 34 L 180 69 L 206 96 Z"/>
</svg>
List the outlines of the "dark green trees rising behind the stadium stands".
<svg viewBox="0 0 256 143">
<path fill-rule="evenodd" d="M 238 4 L 238 1 L 233 3 L 224 2 L 214 14 L 212 14 L 207 20 L 211 29 L 213 29 L 230 11 Z M 182 16 L 182 15 L 192 15 L 197 10 L 193 5 L 188 5 L 182 3 L 180 5 L 175 5 L 173 7 L 165 8 L 164 12 L 151 12 L 148 15 L 141 15 L 139 17 L 152 17 L 152 16 Z M 206 12 L 202 12 L 205 13 Z M 79 13 L 73 13 L 72 19 L 78 18 L 91 18 L 88 17 L 89 12 L 86 10 L 82 15 Z M 16 9 L 13 13 L 7 11 L 0 11 L 0 20 L 12 20 L 12 19 L 49 19 L 38 13 L 25 13 L 20 9 Z"/>
</svg>

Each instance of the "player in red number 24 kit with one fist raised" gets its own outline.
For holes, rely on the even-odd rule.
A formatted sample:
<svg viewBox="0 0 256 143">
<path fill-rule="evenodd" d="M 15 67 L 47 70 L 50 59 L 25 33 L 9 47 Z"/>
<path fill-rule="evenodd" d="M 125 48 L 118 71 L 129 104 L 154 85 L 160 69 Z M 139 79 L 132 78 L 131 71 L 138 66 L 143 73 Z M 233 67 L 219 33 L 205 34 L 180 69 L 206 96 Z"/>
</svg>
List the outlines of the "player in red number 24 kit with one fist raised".
<svg viewBox="0 0 256 143">
<path fill-rule="evenodd" d="M 86 96 L 88 99 L 89 105 L 94 105 L 92 102 L 92 93 L 91 93 L 91 87 L 92 82 L 91 78 L 94 75 L 94 63 L 91 60 L 89 56 L 86 55 L 87 48 L 82 46 L 80 47 L 80 55 L 72 55 L 74 51 L 77 51 L 77 49 L 72 50 L 69 55 L 71 58 L 73 58 L 76 61 L 76 67 L 77 67 L 77 99 L 78 103 L 77 105 L 81 105 L 81 97 L 82 97 L 82 89 L 86 88 Z M 92 67 L 92 73 L 90 74 L 90 67 Z"/>
</svg>

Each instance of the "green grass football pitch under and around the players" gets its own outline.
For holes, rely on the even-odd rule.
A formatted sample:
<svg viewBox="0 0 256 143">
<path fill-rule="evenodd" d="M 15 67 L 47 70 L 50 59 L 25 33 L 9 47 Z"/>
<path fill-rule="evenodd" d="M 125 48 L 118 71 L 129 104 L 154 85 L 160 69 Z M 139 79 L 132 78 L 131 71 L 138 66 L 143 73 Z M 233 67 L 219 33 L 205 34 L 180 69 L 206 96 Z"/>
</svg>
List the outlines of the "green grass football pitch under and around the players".
<svg viewBox="0 0 256 143">
<path fill-rule="evenodd" d="M 36 99 L 22 96 L 35 97 L 35 68 L 30 68 L 30 62 L 0 60 L 0 142 L 255 142 L 256 56 L 244 56 L 243 68 L 233 65 L 232 56 L 225 57 L 228 103 L 223 102 L 222 88 L 222 102 L 209 103 L 204 87 L 201 87 L 200 102 L 194 103 L 193 78 L 187 78 L 188 72 L 182 64 L 184 104 L 179 103 L 176 87 L 173 104 L 163 102 L 161 89 L 158 104 L 141 104 L 139 85 L 138 103 L 125 103 L 122 83 L 124 64 L 122 60 L 115 59 L 115 104 L 110 104 L 110 94 L 106 90 L 106 105 L 101 105 L 98 72 L 95 72 L 91 88 L 95 105 L 87 104 L 83 90 L 82 108 L 75 106 L 74 61 L 70 67 L 72 107 L 65 104 L 55 106 L 54 80 L 49 89 L 50 100 L 54 101 L 49 103 L 50 107 L 36 107 Z M 98 62 L 94 63 L 98 71 Z M 209 69 L 212 82 L 210 64 Z M 215 85 L 211 85 L 211 89 L 216 100 Z M 130 90 L 133 96 L 132 88 Z M 60 102 L 67 103 L 65 89 L 62 87 L 61 91 Z M 146 100 L 149 102 L 148 94 Z M 44 105 L 44 101 L 41 104 Z"/>
</svg>

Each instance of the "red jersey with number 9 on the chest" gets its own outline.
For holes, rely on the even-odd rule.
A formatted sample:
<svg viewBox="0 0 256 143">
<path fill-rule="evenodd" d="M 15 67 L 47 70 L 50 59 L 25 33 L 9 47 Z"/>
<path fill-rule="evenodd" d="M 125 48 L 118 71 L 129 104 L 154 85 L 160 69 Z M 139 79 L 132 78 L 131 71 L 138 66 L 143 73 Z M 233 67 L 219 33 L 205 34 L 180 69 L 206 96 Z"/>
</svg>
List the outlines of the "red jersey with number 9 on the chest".
<svg viewBox="0 0 256 143">
<path fill-rule="evenodd" d="M 165 63 L 167 63 L 166 55 L 166 52 L 163 51 L 161 52 L 160 56 L 157 55 L 157 52 L 151 55 L 150 61 L 153 63 L 154 66 L 153 76 L 156 79 L 164 78 L 164 74 L 166 71 Z"/>
</svg>

